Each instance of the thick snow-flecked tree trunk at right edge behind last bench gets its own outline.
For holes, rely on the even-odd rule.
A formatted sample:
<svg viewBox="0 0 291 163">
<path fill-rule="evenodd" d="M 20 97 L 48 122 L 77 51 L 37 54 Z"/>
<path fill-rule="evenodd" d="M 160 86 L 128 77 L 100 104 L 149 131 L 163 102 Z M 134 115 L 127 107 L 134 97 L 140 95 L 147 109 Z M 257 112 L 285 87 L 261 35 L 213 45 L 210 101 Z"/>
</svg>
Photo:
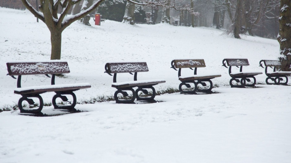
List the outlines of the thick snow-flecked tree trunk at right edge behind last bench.
<svg viewBox="0 0 291 163">
<path fill-rule="evenodd" d="M 280 0 L 278 42 L 280 43 L 281 70 L 290 71 L 291 65 L 291 2 Z"/>
</svg>

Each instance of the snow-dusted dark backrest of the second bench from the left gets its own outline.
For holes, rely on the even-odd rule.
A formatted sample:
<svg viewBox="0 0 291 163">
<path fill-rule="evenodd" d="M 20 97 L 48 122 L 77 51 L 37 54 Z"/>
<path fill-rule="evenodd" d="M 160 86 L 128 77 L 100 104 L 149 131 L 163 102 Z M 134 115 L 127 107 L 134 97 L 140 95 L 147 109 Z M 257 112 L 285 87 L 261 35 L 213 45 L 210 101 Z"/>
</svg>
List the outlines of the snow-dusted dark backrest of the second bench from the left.
<svg viewBox="0 0 291 163">
<path fill-rule="evenodd" d="M 105 70 L 108 73 L 135 73 L 147 72 L 149 68 L 146 62 L 121 62 L 121 63 L 106 63 Z"/>
</svg>

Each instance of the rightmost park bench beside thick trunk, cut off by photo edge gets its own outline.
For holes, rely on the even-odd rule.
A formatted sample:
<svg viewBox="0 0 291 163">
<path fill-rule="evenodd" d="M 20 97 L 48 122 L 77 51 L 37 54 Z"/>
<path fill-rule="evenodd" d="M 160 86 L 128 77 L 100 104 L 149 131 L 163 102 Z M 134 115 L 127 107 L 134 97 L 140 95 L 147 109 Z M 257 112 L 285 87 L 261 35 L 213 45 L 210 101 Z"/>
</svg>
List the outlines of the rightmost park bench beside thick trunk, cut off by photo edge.
<svg viewBox="0 0 291 163">
<path fill-rule="evenodd" d="M 266 83 L 267 84 L 276 84 L 276 85 L 287 85 L 288 77 L 287 75 L 291 75 L 290 71 L 277 71 L 278 67 L 281 66 L 281 62 L 278 60 L 261 60 L 260 66 L 263 67 L 263 63 L 265 65 L 265 74 L 267 75 Z M 268 72 L 268 67 L 273 68 L 273 72 Z M 264 67 L 263 67 L 264 68 Z M 283 77 L 285 77 L 285 82 Z M 268 80 L 271 79 L 274 83 L 269 83 Z"/>
</svg>

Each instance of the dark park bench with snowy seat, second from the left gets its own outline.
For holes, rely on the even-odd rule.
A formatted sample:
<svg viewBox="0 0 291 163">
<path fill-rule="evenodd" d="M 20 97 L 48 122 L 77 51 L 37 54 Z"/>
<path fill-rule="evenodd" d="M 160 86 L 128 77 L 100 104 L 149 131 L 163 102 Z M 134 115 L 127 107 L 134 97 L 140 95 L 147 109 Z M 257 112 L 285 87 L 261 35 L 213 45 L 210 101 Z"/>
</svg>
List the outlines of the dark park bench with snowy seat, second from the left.
<svg viewBox="0 0 291 163">
<path fill-rule="evenodd" d="M 137 73 L 138 72 L 147 72 L 149 71 L 146 62 L 124 62 L 124 63 L 106 63 L 105 65 L 105 72 L 113 75 L 113 83 L 112 87 L 116 88 L 117 91 L 114 94 L 114 99 L 116 103 L 134 103 L 135 98 L 137 101 L 153 101 L 156 95 L 156 91 L 154 89 L 154 85 L 166 82 L 163 79 L 159 80 L 140 80 L 137 81 Z M 117 73 L 134 73 L 133 80 L 134 81 L 125 81 L 125 82 L 116 82 L 116 75 Z M 133 75 L 133 74 L 132 74 Z M 111 75 L 112 76 L 112 75 Z M 134 87 L 137 87 L 137 90 L 133 90 Z M 153 94 L 150 97 L 141 97 L 139 96 L 139 92 L 143 92 L 144 94 L 149 94 L 146 89 L 151 89 Z M 125 90 L 132 91 L 132 98 L 131 99 L 119 99 L 118 94 L 122 94 L 123 96 L 128 97 L 128 93 Z"/>
</svg>

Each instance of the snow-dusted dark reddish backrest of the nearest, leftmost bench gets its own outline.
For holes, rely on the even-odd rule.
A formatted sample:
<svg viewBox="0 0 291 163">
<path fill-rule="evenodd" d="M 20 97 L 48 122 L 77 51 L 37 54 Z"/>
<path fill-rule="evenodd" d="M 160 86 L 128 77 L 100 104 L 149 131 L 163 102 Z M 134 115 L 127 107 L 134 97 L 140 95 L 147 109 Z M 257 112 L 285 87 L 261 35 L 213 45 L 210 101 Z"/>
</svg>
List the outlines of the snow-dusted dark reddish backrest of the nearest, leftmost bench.
<svg viewBox="0 0 291 163">
<path fill-rule="evenodd" d="M 7 62 L 9 75 L 38 75 L 70 73 L 66 61 L 13 61 Z"/>
</svg>

